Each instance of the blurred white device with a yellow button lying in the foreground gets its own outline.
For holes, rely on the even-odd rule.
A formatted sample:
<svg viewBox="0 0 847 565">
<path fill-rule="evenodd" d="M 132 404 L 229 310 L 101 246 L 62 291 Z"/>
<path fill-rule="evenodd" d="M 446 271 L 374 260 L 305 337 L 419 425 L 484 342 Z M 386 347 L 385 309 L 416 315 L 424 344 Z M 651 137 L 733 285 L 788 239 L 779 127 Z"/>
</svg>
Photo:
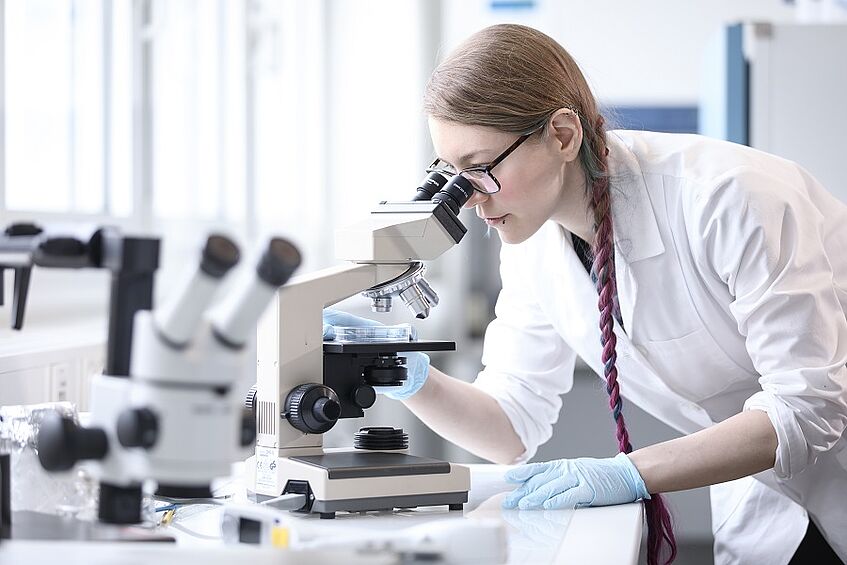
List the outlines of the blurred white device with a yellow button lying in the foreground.
<svg viewBox="0 0 847 565">
<path fill-rule="evenodd" d="M 443 519 L 397 530 L 362 527 L 344 535 L 309 539 L 306 524 L 261 505 L 224 506 L 221 534 L 228 544 L 254 544 L 291 551 L 347 549 L 360 554 L 389 553 L 414 561 L 452 564 L 505 563 L 505 525 L 495 519 Z"/>
</svg>

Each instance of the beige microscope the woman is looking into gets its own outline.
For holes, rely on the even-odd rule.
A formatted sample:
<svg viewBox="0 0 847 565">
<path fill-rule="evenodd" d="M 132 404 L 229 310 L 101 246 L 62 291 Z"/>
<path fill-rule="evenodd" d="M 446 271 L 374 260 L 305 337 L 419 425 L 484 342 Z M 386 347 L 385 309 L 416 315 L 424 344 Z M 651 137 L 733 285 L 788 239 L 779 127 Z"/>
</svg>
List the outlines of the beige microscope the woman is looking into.
<svg viewBox="0 0 847 565">
<path fill-rule="evenodd" d="M 432 171 L 410 202 L 381 202 L 370 216 L 336 232 L 336 254 L 347 263 L 292 278 L 259 322 L 257 384 L 247 398 L 256 416 L 256 453 L 247 460 L 254 500 L 299 495 L 297 508 L 334 518 L 361 512 L 447 505 L 468 499 L 467 467 L 408 453 L 408 437 L 393 427 L 363 428 L 352 449 L 324 449 L 322 434 L 341 418 L 359 418 L 376 399 L 374 386 L 401 385 L 408 351 L 455 350 L 449 341 L 323 340 L 322 311 L 361 293 L 374 312 L 396 299 L 426 318 L 438 296 L 424 278 L 430 261 L 459 243 L 459 210 L 471 181 Z"/>
</svg>

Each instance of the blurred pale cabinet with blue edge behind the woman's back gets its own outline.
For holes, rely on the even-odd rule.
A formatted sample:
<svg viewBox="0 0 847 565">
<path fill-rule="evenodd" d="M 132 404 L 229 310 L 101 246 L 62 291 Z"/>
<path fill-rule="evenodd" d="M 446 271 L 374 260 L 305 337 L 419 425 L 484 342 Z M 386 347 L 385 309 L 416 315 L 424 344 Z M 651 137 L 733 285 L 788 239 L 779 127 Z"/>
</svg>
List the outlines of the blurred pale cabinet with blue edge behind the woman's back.
<svg viewBox="0 0 847 565">
<path fill-rule="evenodd" d="M 731 25 L 703 64 L 700 133 L 791 159 L 847 202 L 847 24 Z"/>
</svg>

